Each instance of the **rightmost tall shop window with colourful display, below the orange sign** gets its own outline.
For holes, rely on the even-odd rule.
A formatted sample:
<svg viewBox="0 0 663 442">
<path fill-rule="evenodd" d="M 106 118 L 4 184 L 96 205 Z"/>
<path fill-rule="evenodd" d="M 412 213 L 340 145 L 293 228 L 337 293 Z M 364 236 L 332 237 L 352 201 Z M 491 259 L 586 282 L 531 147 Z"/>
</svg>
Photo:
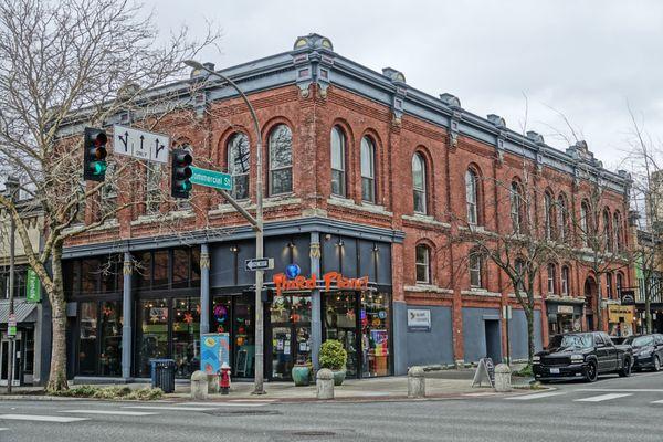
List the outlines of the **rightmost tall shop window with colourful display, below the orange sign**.
<svg viewBox="0 0 663 442">
<path fill-rule="evenodd" d="M 361 351 L 364 352 L 364 377 L 388 376 L 390 296 L 387 293 L 364 292 L 361 294 Z"/>
</svg>

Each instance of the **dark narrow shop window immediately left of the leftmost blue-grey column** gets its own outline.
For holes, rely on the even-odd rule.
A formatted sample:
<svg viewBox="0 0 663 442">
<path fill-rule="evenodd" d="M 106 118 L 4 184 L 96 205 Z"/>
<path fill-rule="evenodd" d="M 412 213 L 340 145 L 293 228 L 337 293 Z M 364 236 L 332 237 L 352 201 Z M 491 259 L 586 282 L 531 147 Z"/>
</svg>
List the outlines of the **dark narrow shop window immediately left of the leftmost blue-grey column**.
<svg viewBox="0 0 663 442">
<path fill-rule="evenodd" d="M 102 303 L 101 375 L 122 376 L 122 302 Z"/>
</svg>

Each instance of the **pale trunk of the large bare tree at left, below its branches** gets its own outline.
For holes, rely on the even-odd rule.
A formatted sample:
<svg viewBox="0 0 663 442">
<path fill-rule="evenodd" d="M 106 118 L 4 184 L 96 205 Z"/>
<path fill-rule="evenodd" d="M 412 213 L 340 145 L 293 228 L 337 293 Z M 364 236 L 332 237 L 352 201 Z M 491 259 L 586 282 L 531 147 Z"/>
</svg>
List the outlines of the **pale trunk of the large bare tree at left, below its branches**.
<svg viewBox="0 0 663 442">
<path fill-rule="evenodd" d="M 62 243 L 53 248 L 51 256 L 53 285 L 49 292 L 52 309 L 51 372 L 46 391 L 62 391 L 69 388 L 66 382 L 66 303 L 62 281 Z"/>
</svg>

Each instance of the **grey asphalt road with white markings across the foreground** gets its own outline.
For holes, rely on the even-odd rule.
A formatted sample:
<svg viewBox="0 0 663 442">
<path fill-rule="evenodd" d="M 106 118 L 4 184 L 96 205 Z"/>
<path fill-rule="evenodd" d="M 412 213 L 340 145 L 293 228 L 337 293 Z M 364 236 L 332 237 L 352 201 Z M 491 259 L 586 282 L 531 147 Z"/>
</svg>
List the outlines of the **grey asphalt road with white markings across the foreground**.
<svg viewBox="0 0 663 442">
<path fill-rule="evenodd" d="M 0 441 L 659 442 L 662 381 L 663 372 L 638 373 L 546 392 L 362 403 L 0 400 Z"/>
</svg>

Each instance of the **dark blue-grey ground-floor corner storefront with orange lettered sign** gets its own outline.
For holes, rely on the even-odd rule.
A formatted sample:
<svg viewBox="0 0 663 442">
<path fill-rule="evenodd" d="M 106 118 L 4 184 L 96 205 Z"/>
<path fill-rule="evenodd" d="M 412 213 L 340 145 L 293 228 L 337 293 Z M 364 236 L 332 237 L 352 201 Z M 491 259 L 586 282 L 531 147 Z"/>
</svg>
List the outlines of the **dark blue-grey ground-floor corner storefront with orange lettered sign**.
<svg viewBox="0 0 663 442">
<path fill-rule="evenodd" d="M 171 358 L 187 379 L 200 367 L 200 334 L 228 333 L 233 377 L 252 378 L 255 274 L 245 260 L 254 246 L 238 239 L 67 260 L 70 377 L 147 378 L 150 359 Z M 263 295 L 267 379 L 290 380 L 326 339 L 344 344 L 348 377 L 393 373 L 388 241 L 315 232 L 267 236 L 264 248 L 274 259 Z M 316 283 L 276 290 L 288 266 Z"/>
</svg>

